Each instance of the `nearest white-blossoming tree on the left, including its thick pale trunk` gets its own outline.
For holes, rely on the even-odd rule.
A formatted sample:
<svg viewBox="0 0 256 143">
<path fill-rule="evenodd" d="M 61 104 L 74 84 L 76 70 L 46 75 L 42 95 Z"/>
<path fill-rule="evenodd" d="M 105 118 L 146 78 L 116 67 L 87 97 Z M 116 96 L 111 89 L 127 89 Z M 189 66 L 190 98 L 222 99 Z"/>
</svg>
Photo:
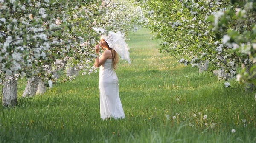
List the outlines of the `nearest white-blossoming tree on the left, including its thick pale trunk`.
<svg viewBox="0 0 256 143">
<path fill-rule="evenodd" d="M 88 36 L 76 26 L 87 26 L 87 20 L 76 23 L 70 13 L 79 4 L 75 0 L 0 1 L 1 13 L 1 81 L 3 104 L 17 104 L 18 76 L 34 75 L 52 85 L 51 63 L 75 53 L 72 46 Z M 80 38 L 79 38 L 80 37 Z M 36 86 L 35 86 L 36 87 Z"/>
</svg>

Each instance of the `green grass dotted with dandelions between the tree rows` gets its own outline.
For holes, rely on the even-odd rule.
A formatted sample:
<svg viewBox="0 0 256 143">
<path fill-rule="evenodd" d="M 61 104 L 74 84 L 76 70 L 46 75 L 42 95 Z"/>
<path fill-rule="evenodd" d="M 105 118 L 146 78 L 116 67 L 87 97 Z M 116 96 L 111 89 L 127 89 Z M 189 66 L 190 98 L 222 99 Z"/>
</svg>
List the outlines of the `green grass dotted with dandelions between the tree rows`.
<svg viewBox="0 0 256 143">
<path fill-rule="evenodd" d="M 18 105 L 0 107 L 0 143 L 256 143 L 254 93 L 180 65 L 150 37 L 147 29 L 131 33 L 132 64 L 116 70 L 125 119 L 100 119 L 99 73 L 33 98 L 22 98 L 19 81 Z"/>
</svg>

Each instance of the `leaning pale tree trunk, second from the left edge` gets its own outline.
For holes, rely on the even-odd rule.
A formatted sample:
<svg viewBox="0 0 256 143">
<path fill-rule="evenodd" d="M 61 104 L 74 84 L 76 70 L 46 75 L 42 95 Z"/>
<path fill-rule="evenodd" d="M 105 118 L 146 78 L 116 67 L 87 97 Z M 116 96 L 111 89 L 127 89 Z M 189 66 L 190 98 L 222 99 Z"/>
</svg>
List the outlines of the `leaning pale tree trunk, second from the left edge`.
<svg viewBox="0 0 256 143">
<path fill-rule="evenodd" d="M 27 85 L 26 85 L 26 88 L 23 92 L 22 97 L 33 97 L 33 96 L 35 96 L 35 93 L 38 90 L 39 82 L 40 82 L 40 77 L 38 77 L 38 76 L 34 76 L 33 81 L 31 79 L 29 79 L 27 81 Z"/>
</svg>

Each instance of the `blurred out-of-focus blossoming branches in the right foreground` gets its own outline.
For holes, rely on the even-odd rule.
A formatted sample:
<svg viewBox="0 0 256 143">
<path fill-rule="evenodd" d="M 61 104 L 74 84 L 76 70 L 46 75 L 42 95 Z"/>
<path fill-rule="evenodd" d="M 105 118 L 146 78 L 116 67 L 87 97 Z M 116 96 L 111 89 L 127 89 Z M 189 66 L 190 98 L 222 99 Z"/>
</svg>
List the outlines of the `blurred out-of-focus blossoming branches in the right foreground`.
<svg viewBox="0 0 256 143">
<path fill-rule="evenodd" d="M 222 42 L 236 55 L 244 57 L 241 62 L 245 68 L 237 74 L 237 81 L 256 85 L 256 1 L 231 0 L 230 3 L 233 8 L 221 14 L 217 25 L 212 23 L 213 31 L 221 35 Z M 213 21 L 212 17 L 209 19 Z"/>
</svg>

